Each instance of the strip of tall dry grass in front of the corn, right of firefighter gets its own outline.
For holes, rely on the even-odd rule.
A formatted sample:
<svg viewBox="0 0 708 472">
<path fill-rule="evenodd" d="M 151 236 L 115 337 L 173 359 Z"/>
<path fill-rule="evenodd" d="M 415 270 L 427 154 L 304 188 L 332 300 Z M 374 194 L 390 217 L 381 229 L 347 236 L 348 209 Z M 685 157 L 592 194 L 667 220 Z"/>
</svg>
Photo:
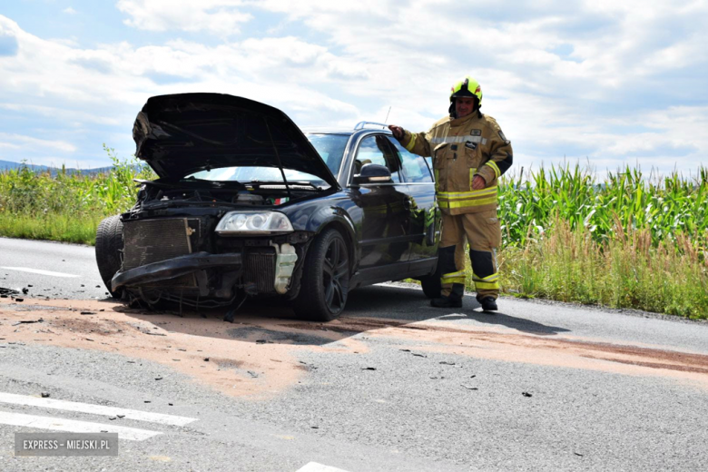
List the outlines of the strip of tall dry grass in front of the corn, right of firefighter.
<svg viewBox="0 0 708 472">
<path fill-rule="evenodd" d="M 652 243 L 648 229 L 597 242 L 585 227 L 556 219 L 546 236 L 501 252 L 502 284 L 522 297 L 708 318 L 708 261 L 693 241 Z"/>
</svg>

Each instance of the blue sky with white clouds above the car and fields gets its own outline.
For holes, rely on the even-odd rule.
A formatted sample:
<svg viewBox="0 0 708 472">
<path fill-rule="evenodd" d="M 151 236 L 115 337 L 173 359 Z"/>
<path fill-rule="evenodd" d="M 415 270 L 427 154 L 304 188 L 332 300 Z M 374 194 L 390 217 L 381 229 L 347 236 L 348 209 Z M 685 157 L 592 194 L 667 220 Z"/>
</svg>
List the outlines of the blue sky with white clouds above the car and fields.
<svg viewBox="0 0 708 472">
<path fill-rule="evenodd" d="M 426 131 L 467 75 L 516 172 L 708 162 L 708 0 L 0 0 L 0 160 L 129 158 L 165 93 Z"/>
</svg>

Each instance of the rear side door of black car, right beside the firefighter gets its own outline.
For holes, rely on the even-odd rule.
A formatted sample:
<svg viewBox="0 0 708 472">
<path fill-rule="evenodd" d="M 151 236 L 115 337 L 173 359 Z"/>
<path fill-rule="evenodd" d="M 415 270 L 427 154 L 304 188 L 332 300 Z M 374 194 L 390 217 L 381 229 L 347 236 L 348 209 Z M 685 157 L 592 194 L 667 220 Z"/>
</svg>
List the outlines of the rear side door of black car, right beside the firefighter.
<svg viewBox="0 0 708 472">
<path fill-rule="evenodd" d="M 425 270 L 438 256 L 440 211 L 435 199 L 435 182 L 428 160 L 408 152 L 397 140 L 389 138 L 401 162 L 402 177 L 410 196 L 409 261 L 411 271 Z"/>
</svg>

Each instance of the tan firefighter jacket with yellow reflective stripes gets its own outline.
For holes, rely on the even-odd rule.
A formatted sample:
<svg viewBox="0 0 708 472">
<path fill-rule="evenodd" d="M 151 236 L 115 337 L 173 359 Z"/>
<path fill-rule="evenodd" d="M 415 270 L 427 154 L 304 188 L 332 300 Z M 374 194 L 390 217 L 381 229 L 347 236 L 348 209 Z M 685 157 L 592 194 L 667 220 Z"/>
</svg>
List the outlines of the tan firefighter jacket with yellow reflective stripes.
<svg viewBox="0 0 708 472">
<path fill-rule="evenodd" d="M 410 152 L 433 158 L 438 206 L 446 214 L 497 209 L 497 181 L 513 162 L 511 143 L 497 121 L 478 110 L 463 118 L 445 117 L 428 133 L 404 132 Z M 472 190 L 475 175 L 486 186 Z"/>
</svg>

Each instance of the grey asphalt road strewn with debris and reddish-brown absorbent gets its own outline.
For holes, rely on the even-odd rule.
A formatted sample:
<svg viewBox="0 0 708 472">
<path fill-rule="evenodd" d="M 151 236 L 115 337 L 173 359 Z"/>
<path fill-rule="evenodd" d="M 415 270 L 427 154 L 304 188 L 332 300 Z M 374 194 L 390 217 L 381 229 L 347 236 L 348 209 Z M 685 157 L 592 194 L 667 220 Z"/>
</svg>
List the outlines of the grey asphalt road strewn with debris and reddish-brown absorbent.
<svg viewBox="0 0 708 472">
<path fill-rule="evenodd" d="M 260 300 L 231 324 L 128 309 L 93 248 L 9 239 L 0 287 L 20 292 L 0 299 L 1 470 L 708 468 L 703 322 L 506 298 L 497 315 L 474 297 L 439 310 L 380 285 L 331 323 Z M 46 429 L 16 426 L 34 417 Z M 95 423 L 150 437 L 122 436 L 118 457 L 15 457 L 16 432 Z"/>
</svg>

